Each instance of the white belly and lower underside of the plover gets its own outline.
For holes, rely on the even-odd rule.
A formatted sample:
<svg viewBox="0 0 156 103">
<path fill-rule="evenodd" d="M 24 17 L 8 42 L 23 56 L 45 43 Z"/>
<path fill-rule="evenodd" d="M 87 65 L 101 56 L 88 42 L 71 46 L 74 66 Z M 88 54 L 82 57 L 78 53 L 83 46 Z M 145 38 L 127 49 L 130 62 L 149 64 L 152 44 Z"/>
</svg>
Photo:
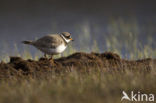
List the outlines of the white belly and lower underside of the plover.
<svg viewBox="0 0 156 103">
<path fill-rule="evenodd" d="M 65 46 L 64 44 L 61 44 L 55 49 L 53 49 L 53 48 L 40 48 L 40 50 L 46 54 L 60 54 L 66 49 L 66 47 L 67 46 Z"/>
</svg>

